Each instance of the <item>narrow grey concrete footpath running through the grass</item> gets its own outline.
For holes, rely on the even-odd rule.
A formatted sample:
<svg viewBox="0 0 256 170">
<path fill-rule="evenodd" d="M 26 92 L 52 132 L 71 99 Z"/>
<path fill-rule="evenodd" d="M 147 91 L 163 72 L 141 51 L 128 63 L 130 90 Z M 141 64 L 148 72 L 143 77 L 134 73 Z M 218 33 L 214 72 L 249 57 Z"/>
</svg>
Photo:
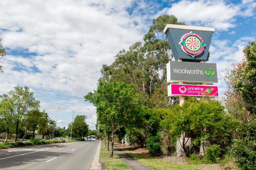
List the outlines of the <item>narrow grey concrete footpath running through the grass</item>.
<svg viewBox="0 0 256 170">
<path fill-rule="evenodd" d="M 153 170 L 116 146 L 114 152 L 133 170 Z"/>
</svg>

